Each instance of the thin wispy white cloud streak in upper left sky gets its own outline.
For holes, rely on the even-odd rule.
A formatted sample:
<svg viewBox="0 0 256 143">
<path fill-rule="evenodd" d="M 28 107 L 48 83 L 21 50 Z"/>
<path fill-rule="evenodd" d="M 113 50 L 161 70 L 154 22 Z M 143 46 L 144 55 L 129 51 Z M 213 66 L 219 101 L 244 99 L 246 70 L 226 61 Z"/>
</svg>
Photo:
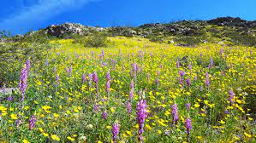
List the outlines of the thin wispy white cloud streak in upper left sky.
<svg viewBox="0 0 256 143">
<path fill-rule="evenodd" d="M 32 6 L 23 7 L 19 12 L 0 21 L 0 29 L 30 28 L 65 11 L 81 9 L 92 1 L 95 0 L 38 0 Z"/>
</svg>

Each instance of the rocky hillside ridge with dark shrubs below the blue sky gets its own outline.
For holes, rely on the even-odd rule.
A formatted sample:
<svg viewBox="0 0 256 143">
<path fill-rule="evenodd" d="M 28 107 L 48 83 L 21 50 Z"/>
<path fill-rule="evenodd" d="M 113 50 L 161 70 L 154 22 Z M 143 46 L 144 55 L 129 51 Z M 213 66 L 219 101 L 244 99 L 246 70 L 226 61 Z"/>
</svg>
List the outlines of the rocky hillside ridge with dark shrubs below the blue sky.
<svg viewBox="0 0 256 143">
<path fill-rule="evenodd" d="M 197 43 L 225 43 L 256 46 L 256 20 L 221 17 L 214 20 L 182 20 L 172 23 L 145 24 L 138 27 L 92 27 L 74 23 L 48 26 L 27 33 L 24 37 L 47 36 L 72 38 L 92 36 L 95 33 L 125 37 L 146 37 L 153 42 L 178 43 L 184 46 Z M 21 39 L 18 36 L 18 39 Z"/>
</svg>

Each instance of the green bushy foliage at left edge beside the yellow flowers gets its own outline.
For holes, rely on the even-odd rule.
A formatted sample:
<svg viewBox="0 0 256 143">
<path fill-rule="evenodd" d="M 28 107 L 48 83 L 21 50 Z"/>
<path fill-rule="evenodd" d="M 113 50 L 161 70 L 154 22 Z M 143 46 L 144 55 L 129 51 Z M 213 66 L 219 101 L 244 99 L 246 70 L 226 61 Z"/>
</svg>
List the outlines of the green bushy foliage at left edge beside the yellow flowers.
<svg viewBox="0 0 256 143">
<path fill-rule="evenodd" d="M 4 83 L 17 81 L 22 63 L 43 60 L 50 49 L 49 43 L 27 43 L 24 39 L 15 43 L 0 44 L 0 87 Z M 52 48 L 52 46 L 51 46 Z"/>
</svg>

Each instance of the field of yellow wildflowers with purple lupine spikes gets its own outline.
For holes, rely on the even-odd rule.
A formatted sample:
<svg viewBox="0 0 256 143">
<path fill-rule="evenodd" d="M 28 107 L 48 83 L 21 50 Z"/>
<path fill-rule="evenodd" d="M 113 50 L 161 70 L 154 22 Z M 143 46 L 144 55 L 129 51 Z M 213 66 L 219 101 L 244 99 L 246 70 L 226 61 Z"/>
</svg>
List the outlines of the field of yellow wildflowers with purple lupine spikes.
<svg viewBox="0 0 256 143">
<path fill-rule="evenodd" d="M 255 48 L 109 39 L 9 65 L 0 142 L 256 142 Z"/>
</svg>

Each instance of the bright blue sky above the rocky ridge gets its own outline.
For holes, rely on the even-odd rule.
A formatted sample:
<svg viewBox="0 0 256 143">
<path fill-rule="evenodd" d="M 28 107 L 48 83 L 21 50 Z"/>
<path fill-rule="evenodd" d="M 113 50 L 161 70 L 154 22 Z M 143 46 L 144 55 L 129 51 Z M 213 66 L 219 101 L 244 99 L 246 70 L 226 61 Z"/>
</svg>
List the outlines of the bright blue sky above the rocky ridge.
<svg viewBox="0 0 256 143">
<path fill-rule="evenodd" d="M 0 30 L 24 34 L 51 24 L 140 26 L 220 16 L 256 20 L 256 0 L 1 0 Z M 22 31 L 21 31 L 22 30 Z"/>
</svg>

